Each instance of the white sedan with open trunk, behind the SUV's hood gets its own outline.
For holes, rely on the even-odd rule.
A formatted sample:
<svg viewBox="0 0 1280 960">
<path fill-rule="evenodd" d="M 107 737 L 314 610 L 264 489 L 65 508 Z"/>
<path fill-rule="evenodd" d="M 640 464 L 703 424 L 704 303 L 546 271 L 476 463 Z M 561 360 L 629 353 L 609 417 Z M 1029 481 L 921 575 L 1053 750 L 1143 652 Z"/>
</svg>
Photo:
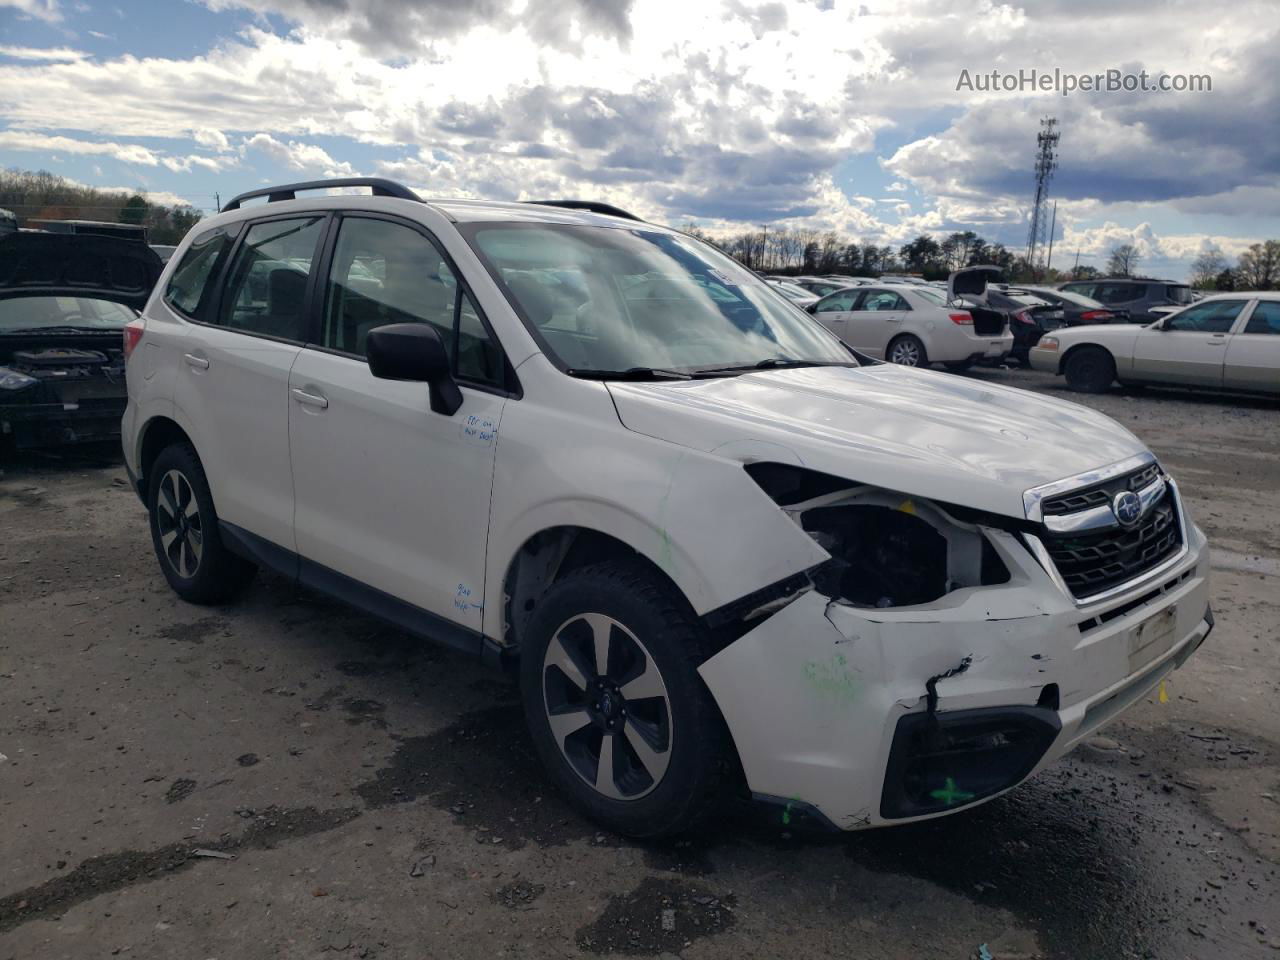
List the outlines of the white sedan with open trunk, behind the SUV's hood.
<svg viewBox="0 0 1280 960">
<path fill-rule="evenodd" d="M 868 356 L 904 366 L 943 364 L 963 370 L 978 360 L 998 360 L 1014 346 L 1005 315 L 980 306 L 989 270 L 952 274 L 950 298 L 925 284 L 872 284 L 837 291 L 805 308 Z M 959 306 L 961 294 L 977 302 Z"/>
</svg>

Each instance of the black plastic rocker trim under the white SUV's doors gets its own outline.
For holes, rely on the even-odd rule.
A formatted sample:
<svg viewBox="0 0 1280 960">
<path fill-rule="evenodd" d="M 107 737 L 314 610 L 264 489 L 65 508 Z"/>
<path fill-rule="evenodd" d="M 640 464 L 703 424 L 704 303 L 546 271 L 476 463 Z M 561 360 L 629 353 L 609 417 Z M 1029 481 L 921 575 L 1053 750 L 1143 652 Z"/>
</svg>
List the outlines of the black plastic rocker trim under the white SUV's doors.
<svg viewBox="0 0 1280 960">
<path fill-rule="evenodd" d="M 486 644 L 485 636 L 479 631 L 453 623 L 346 573 L 301 557 L 234 524 L 219 521 L 218 532 L 232 553 L 270 567 L 302 586 L 334 596 L 415 636 L 480 657 L 486 663 L 502 662 L 497 652 L 488 649 L 495 644 L 492 641 Z"/>
</svg>

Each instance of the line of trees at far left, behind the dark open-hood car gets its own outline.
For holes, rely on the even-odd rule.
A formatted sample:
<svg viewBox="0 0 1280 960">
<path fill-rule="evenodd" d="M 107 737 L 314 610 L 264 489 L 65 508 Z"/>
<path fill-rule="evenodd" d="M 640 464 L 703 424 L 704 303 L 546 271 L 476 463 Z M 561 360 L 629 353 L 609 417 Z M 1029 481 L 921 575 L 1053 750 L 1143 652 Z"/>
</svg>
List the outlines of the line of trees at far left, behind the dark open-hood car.
<svg viewBox="0 0 1280 960">
<path fill-rule="evenodd" d="M 143 191 L 84 187 L 49 170 L 0 170 L 0 210 L 12 210 L 18 224 L 31 220 L 105 220 L 147 228 L 151 243 L 178 243 L 205 215 L 189 205 L 168 206 Z"/>
</svg>

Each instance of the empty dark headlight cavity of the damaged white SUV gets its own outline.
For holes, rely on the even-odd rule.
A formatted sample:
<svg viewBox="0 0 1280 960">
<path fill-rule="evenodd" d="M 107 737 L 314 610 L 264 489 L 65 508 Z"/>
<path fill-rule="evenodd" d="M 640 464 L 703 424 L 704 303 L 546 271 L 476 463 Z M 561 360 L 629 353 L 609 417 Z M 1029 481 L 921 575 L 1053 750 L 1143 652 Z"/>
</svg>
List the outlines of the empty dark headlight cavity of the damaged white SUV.
<svg viewBox="0 0 1280 960">
<path fill-rule="evenodd" d="M 980 526 L 929 500 L 782 463 L 746 470 L 831 554 L 810 576 L 835 600 L 909 607 L 1009 580 Z"/>
</svg>

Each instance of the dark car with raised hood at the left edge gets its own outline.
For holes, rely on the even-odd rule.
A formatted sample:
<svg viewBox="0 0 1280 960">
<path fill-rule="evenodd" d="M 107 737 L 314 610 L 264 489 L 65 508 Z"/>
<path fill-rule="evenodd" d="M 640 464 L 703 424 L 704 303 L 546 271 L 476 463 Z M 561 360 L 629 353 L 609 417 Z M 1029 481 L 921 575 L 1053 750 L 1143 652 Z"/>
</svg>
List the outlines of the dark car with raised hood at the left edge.
<svg viewBox="0 0 1280 960">
<path fill-rule="evenodd" d="M 0 237 L 0 443 L 119 436 L 128 398 L 120 338 L 160 269 L 141 239 Z"/>
</svg>

